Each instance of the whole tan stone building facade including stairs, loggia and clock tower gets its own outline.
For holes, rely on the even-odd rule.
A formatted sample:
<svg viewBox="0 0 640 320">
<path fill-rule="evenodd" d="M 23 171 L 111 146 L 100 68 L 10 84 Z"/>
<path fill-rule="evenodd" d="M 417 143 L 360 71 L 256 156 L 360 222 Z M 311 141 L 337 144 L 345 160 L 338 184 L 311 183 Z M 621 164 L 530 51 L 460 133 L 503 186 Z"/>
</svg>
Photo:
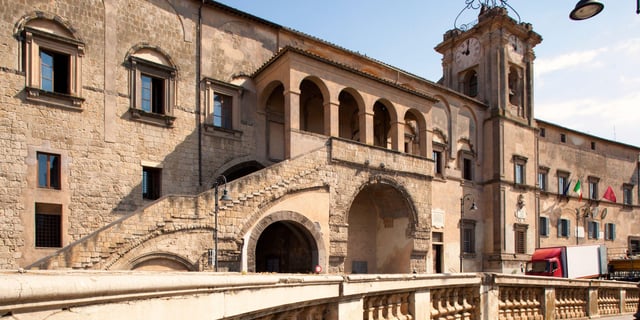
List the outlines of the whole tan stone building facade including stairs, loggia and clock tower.
<svg viewBox="0 0 640 320">
<path fill-rule="evenodd" d="M 445 33 L 436 83 L 213 1 L 0 4 L 0 268 L 640 253 L 640 149 L 535 119 L 542 39 L 503 8 Z"/>
</svg>

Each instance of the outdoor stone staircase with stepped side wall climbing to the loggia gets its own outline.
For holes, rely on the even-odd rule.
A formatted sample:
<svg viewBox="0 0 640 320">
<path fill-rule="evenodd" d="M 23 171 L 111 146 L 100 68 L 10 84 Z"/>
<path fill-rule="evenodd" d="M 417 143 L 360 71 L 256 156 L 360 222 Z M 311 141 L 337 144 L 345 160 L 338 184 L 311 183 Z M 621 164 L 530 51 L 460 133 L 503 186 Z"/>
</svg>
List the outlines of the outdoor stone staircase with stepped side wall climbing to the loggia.
<svg viewBox="0 0 640 320">
<path fill-rule="evenodd" d="M 220 236 L 237 237 L 259 219 L 265 206 L 288 193 L 326 185 L 323 180 L 330 174 L 319 173 L 328 164 L 329 148 L 323 146 L 227 183 L 233 200 L 219 201 Z M 109 270 L 128 252 L 161 235 L 214 230 L 214 204 L 213 189 L 195 196 L 164 196 L 26 268 Z"/>
</svg>

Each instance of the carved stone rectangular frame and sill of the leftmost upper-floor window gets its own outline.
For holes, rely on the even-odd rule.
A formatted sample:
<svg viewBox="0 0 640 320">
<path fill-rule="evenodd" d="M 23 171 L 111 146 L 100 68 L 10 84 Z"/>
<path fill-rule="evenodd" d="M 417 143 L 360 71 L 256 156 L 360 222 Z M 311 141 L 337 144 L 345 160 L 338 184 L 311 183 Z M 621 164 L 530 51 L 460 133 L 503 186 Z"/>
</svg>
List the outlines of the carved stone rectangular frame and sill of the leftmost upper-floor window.
<svg viewBox="0 0 640 320">
<path fill-rule="evenodd" d="M 45 20 L 45 19 L 41 19 Z M 47 21 L 52 25 L 53 21 Z M 82 98 L 82 58 L 84 43 L 66 36 L 25 26 L 22 30 L 24 46 L 24 71 L 26 100 L 54 107 L 81 111 Z M 68 57 L 67 90 L 58 92 L 42 88 L 41 52 L 53 52 Z M 55 79 L 55 77 L 54 77 Z M 55 86 L 54 86 L 55 88 Z M 53 88 L 52 88 L 53 89 Z"/>
</svg>

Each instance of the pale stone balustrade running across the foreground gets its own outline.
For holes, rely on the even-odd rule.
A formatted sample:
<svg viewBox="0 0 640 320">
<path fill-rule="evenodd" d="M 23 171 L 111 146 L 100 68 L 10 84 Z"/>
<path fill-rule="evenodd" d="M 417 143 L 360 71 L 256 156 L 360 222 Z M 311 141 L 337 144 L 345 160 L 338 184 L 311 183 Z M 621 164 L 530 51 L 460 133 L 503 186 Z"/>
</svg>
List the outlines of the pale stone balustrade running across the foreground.
<svg viewBox="0 0 640 320">
<path fill-rule="evenodd" d="M 635 283 L 504 274 L 0 273 L 11 319 L 584 319 L 631 314 Z"/>
</svg>

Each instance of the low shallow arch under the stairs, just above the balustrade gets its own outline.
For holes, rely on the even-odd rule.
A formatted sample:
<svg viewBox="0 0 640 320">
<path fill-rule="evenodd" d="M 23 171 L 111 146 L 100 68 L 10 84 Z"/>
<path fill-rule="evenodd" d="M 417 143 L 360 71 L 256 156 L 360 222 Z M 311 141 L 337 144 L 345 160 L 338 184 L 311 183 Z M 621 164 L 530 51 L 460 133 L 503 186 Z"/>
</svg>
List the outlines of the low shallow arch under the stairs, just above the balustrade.
<svg viewBox="0 0 640 320">
<path fill-rule="evenodd" d="M 196 263 L 172 252 L 150 252 L 128 262 L 130 270 L 198 271 Z"/>
</svg>

